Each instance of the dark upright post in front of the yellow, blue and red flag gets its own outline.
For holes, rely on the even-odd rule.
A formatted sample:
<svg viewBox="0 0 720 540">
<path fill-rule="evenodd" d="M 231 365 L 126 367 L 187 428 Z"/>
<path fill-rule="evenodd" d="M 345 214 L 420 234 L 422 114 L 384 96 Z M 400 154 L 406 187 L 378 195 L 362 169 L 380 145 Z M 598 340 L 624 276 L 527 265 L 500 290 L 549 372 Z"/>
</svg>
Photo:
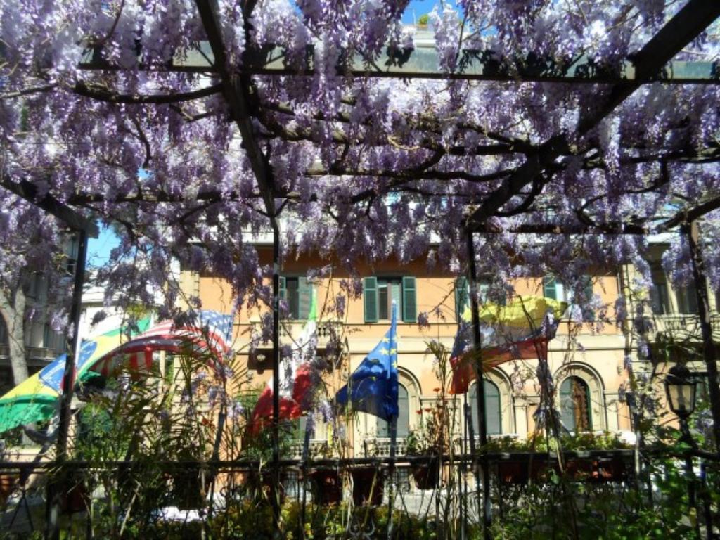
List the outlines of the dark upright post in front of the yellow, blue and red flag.
<svg viewBox="0 0 720 540">
<path fill-rule="evenodd" d="M 475 246 L 472 231 L 466 230 L 468 273 L 470 283 L 470 307 L 472 310 L 472 343 L 477 361 L 475 362 L 475 378 L 477 384 L 477 427 L 480 431 L 480 447 L 483 454 L 487 445 L 487 425 L 485 423 L 485 385 L 483 384 L 482 370 L 482 336 L 480 335 L 480 306 L 477 304 L 477 266 L 475 264 Z M 490 525 L 492 524 L 492 507 L 490 503 L 490 467 L 487 456 L 483 455 L 480 467 L 476 467 L 482 477 L 482 532 L 485 540 L 490 540 Z"/>
</svg>

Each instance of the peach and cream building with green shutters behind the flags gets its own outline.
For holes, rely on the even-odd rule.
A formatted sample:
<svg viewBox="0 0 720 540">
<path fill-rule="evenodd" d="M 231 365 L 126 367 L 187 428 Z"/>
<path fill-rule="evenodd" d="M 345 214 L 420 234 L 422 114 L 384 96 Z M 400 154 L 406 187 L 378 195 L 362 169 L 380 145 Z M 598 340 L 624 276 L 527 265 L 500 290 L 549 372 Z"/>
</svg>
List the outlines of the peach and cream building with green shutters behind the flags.
<svg viewBox="0 0 720 540">
<path fill-rule="evenodd" d="M 261 253 L 261 260 L 269 263 L 270 250 Z M 364 292 L 361 297 L 348 300 L 342 319 L 338 319 L 333 307 L 336 295 L 341 292 L 341 282 L 351 278 L 341 271 L 333 271 L 312 284 L 306 279 L 307 271 L 328 264 L 320 260 L 294 260 L 288 258 L 282 269 L 282 289 L 291 311 L 292 320 L 282 323 L 282 343 L 297 336 L 307 317 L 310 289 L 315 291 L 318 302 L 318 354 L 324 354 L 328 336 L 339 336 L 342 354 L 325 377 L 328 397 L 343 384 L 343 374 L 352 372 L 374 348 L 389 327 L 389 305 L 395 299 L 399 305 L 397 338 L 398 370 L 400 374 L 400 417 L 398 418 L 399 451 L 402 440 L 417 428 L 423 409 L 436 402 L 438 379 L 434 371 L 433 355 L 428 351 L 428 341 L 436 340 L 451 350 L 457 330 L 459 296 L 455 292 L 456 277 L 440 271 L 428 271 L 424 261 L 400 265 L 386 261 L 375 266 L 359 266 L 356 271 L 363 278 Z M 592 320 L 582 325 L 562 321 L 556 338 L 549 345 L 549 364 L 557 385 L 557 407 L 568 431 L 631 430 L 629 410 L 618 398 L 618 390 L 626 383 L 624 368 L 626 353 L 637 361 L 634 343 L 626 339 L 623 328 L 614 323 L 613 305 L 624 284 L 629 282 L 631 268 L 603 269 L 595 271 L 588 282 L 596 300 L 608 306 L 609 322 L 599 324 Z M 206 309 L 230 312 L 232 294 L 227 283 L 213 276 L 183 272 L 182 287 L 186 294 L 197 296 Z M 670 303 L 677 296 L 670 291 Z M 562 285 L 542 276 L 520 279 L 515 284 L 516 293 L 552 296 L 557 300 L 569 300 Z M 662 287 L 661 287 L 662 288 Z M 656 291 L 651 292 L 654 298 Z M 675 299 L 675 300 L 672 300 Z M 461 310 L 462 311 L 462 310 Z M 420 328 L 417 314 L 431 312 L 429 325 Z M 248 366 L 253 387 L 266 384 L 271 377 L 271 343 L 260 343 L 250 354 L 250 339 L 260 323 L 259 312 L 238 312 L 235 320 L 236 360 Z M 662 324 L 662 315 L 660 317 Z M 574 338 L 570 338 L 570 336 Z M 539 387 L 536 384 L 536 360 L 510 361 L 492 369 L 487 374 L 486 409 L 490 435 L 517 436 L 523 438 L 534 431 L 534 412 L 539 405 Z M 474 396 L 471 387 L 469 397 Z M 451 399 L 457 426 L 462 426 L 459 414 L 463 397 Z M 477 420 L 476 420 L 477 422 Z M 387 437 L 387 426 L 376 417 L 359 413 L 352 420 L 350 439 L 354 453 L 362 455 L 369 445 L 374 451 Z M 461 429 L 460 427 L 458 430 Z M 330 428 L 318 425 L 314 438 L 323 441 Z M 477 433 L 477 431 L 476 431 Z"/>
</svg>

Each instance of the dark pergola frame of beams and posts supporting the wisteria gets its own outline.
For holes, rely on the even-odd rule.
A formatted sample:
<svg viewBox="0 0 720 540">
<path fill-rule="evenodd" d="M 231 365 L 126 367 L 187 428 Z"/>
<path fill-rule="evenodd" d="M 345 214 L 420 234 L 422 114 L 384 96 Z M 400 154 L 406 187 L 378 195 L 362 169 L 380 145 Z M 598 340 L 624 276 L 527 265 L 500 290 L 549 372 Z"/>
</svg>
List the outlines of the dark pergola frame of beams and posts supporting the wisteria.
<svg viewBox="0 0 720 540">
<path fill-rule="evenodd" d="M 181 103 L 199 99 L 212 94 L 220 93 L 230 112 L 230 119 L 238 128 L 242 138 L 243 148 L 251 163 L 253 174 L 258 186 L 257 197 L 261 201 L 263 211 L 269 219 L 274 238 L 274 272 L 273 272 L 273 385 L 274 385 L 274 449 L 273 462 L 276 474 L 275 485 L 279 481 L 279 275 L 280 275 L 280 227 L 279 215 L 283 204 L 278 200 L 292 200 L 296 197 L 292 192 L 284 192 L 276 181 L 274 171 L 268 158 L 262 150 L 262 144 L 267 138 L 276 137 L 289 141 L 310 141 L 312 134 L 300 128 L 290 129 L 280 125 L 274 120 L 274 114 L 284 114 L 292 117 L 294 111 L 289 104 L 264 103 L 258 97 L 253 77 L 283 76 L 307 77 L 315 74 L 312 63 L 312 48 L 307 50 L 305 66 L 300 69 L 289 68 L 284 62 L 285 51 L 279 47 L 269 46 L 263 50 L 248 48 L 243 54 L 241 63 L 238 58 L 228 58 L 228 45 L 223 41 L 220 11 L 217 0 L 196 0 L 197 9 L 202 19 L 207 40 L 202 42 L 196 53 L 186 58 L 175 58 L 163 65 L 140 63 L 140 69 L 148 71 L 166 71 L 178 73 L 205 74 L 215 81 L 212 86 L 200 91 L 187 94 L 158 94 L 147 96 L 134 96 L 112 94 L 107 89 L 91 84 L 78 84 L 74 91 L 76 94 L 112 103 L 128 104 L 163 104 Z M 251 18 L 256 2 L 248 0 L 243 4 L 244 20 Z M 575 152 L 573 140 L 582 138 L 597 127 L 609 114 L 623 103 L 634 91 L 645 84 L 660 83 L 665 85 L 717 85 L 720 84 L 720 66 L 716 62 L 688 62 L 672 60 L 683 48 L 696 39 L 716 19 L 720 17 L 720 3 L 707 0 L 690 0 L 680 11 L 661 28 L 631 58 L 626 58 L 618 66 L 600 66 L 591 58 L 568 58 L 557 60 L 541 55 L 526 55 L 524 57 L 500 57 L 496 54 L 480 50 L 462 50 L 457 68 L 454 71 L 441 71 L 438 69 L 438 54 L 431 47 L 418 46 L 415 49 L 392 48 L 375 60 L 364 57 L 361 53 L 346 55 L 347 58 L 338 66 L 338 74 L 358 78 L 395 78 L 401 80 L 411 79 L 439 79 L 447 81 L 505 81 L 509 83 L 542 82 L 554 84 L 602 84 L 607 85 L 607 91 L 598 96 L 597 102 L 585 104 L 575 132 L 557 132 L 539 144 L 529 143 L 527 140 L 518 140 L 503 133 L 489 133 L 480 126 L 467 125 L 469 130 L 477 130 L 492 141 L 485 145 L 478 145 L 472 150 L 462 146 L 445 148 L 433 142 L 430 135 L 435 134 L 437 126 L 433 122 L 417 127 L 418 132 L 426 131 L 428 137 L 423 139 L 419 148 L 429 152 L 431 157 L 410 170 L 394 171 L 384 169 L 353 168 L 347 165 L 338 165 L 335 168 L 312 166 L 305 171 L 307 176 L 323 176 L 326 174 L 347 177 L 348 181 L 355 176 L 377 176 L 389 179 L 390 189 L 402 190 L 412 182 L 422 179 L 446 180 L 466 179 L 469 182 L 500 181 L 482 200 L 473 201 L 472 210 L 465 220 L 465 234 L 467 238 L 467 251 L 469 253 L 468 277 L 471 284 L 477 282 L 477 270 L 474 257 L 474 234 L 492 234 L 503 232 L 502 227 L 492 222 L 492 218 L 503 215 L 503 208 L 516 197 L 523 197 L 523 202 L 514 209 L 516 212 L 531 207 L 543 187 L 552 182 L 552 175 L 562 168 L 563 156 L 570 156 Z M 241 66 L 231 69 L 230 66 Z M 102 58 L 102 49 L 89 50 L 84 55 L 80 68 L 87 71 L 117 71 L 120 66 L 114 66 Z M 352 101 L 348 107 L 352 107 Z M 188 120 L 197 120 L 189 118 Z M 317 114 L 317 122 L 349 122 L 348 114 L 338 114 L 337 117 L 327 118 Z M 263 129 L 260 131 L 257 125 Z M 336 133 L 335 142 L 338 145 L 351 145 L 354 141 L 347 140 L 341 132 Z M 517 154 L 524 161 L 516 168 L 497 171 L 492 174 L 476 175 L 466 171 L 448 171 L 438 169 L 436 165 L 443 156 L 472 155 L 498 156 Z M 685 163 L 707 163 L 720 160 L 720 146 L 708 143 L 706 148 L 688 149 L 656 156 L 625 158 L 628 164 L 641 161 L 654 161 L 667 163 L 679 161 Z M 622 164 L 622 163 L 621 163 Z M 585 168 L 602 167 L 602 158 L 586 158 Z M 666 171 L 667 172 L 667 171 Z M 660 182 L 669 182 L 667 174 Z M 70 223 L 73 227 L 82 230 L 91 230 L 92 226 L 85 218 L 78 215 L 73 208 L 91 208 L 92 204 L 107 202 L 102 194 L 78 193 L 63 204 L 45 195 L 37 199 L 32 184 L 24 182 L 17 184 L 8 178 L 3 178 L 1 185 L 12 190 L 20 197 L 24 197 L 48 210 L 60 219 Z M 659 189 L 660 184 L 649 186 L 649 189 Z M 350 202 L 359 203 L 372 199 L 376 194 L 372 190 L 359 191 L 354 194 Z M 204 191 L 198 194 L 198 201 L 220 200 L 220 192 Z M 225 197 L 228 197 L 225 194 Z M 230 194 L 240 197 L 239 194 Z M 179 200 L 163 192 L 138 192 L 132 195 L 120 196 L 112 202 L 174 202 Z M 575 235 L 598 233 L 603 235 L 646 235 L 658 230 L 671 230 L 680 227 L 688 235 L 690 248 L 693 253 L 693 273 L 698 291 L 698 307 L 701 318 L 703 334 L 703 356 L 706 361 L 708 377 L 714 384 L 710 384 L 711 408 L 715 420 L 716 443 L 720 442 L 720 388 L 718 387 L 718 372 L 716 366 L 716 351 L 711 336 L 710 314 L 707 299 L 706 276 L 702 271 L 702 261 L 690 228 L 699 218 L 708 212 L 720 208 L 720 198 L 698 202 L 691 210 L 675 215 L 660 224 L 648 222 L 596 222 L 584 209 L 577 209 L 580 225 L 563 225 L 552 222 L 526 223 L 513 227 L 512 233 L 531 234 L 560 234 Z M 507 215 L 507 214 L 505 214 Z M 76 284 L 77 286 L 77 284 Z M 478 315 L 477 296 L 471 294 L 472 320 L 474 326 L 474 346 L 482 346 L 480 339 L 480 319 Z M 77 328 L 77 324 L 76 327 Z M 74 359 L 68 355 L 66 363 L 66 378 L 73 373 Z M 482 373 L 481 366 L 477 372 Z M 69 380 L 69 379 L 68 379 Z M 72 393 L 72 384 L 65 385 L 63 395 L 63 410 L 61 412 L 62 425 L 60 428 L 60 441 L 58 445 L 66 447 L 67 427 L 69 421 L 68 407 Z M 480 423 L 480 444 L 487 441 L 487 426 L 485 415 L 482 412 L 484 404 L 482 384 L 478 385 L 477 392 L 477 418 Z M 483 517 L 485 531 L 488 534 L 490 524 L 490 479 L 487 462 L 480 460 L 477 463 L 478 472 L 482 478 L 482 492 L 484 500 Z M 279 516 L 279 507 L 276 498 L 276 516 Z"/>
</svg>

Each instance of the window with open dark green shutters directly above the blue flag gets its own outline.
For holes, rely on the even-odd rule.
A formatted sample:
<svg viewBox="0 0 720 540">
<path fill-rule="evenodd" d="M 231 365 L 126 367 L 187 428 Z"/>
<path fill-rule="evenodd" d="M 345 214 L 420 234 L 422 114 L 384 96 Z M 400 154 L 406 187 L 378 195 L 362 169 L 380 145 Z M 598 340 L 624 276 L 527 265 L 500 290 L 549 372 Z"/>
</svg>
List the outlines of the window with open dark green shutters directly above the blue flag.
<svg viewBox="0 0 720 540">
<path fill-rule="evenodd" d="M 366 277 L 363 294 L 366 323 L 390 320 L 393 301 L 397 304 L 398 318 L 405 323 L 418 320 L 414 277 Z"/>
</svg>

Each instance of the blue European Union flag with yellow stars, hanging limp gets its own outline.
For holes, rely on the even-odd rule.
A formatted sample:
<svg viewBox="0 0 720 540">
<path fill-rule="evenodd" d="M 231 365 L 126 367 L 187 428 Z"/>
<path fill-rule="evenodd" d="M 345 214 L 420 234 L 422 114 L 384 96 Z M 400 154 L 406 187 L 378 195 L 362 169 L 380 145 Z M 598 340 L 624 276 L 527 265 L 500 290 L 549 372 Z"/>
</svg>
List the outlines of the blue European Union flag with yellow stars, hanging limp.
<svg viewBox="0 0 720 540">
<path fill-rule="evenodd" d="M 351 374 L 336 395 L 341 405 L 390 421 L 397 416 L 397 305 L 392 302 L 390 330 Z"/>
</svg>

